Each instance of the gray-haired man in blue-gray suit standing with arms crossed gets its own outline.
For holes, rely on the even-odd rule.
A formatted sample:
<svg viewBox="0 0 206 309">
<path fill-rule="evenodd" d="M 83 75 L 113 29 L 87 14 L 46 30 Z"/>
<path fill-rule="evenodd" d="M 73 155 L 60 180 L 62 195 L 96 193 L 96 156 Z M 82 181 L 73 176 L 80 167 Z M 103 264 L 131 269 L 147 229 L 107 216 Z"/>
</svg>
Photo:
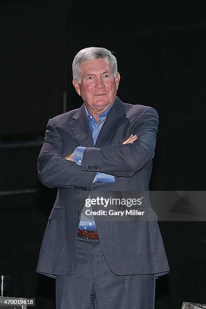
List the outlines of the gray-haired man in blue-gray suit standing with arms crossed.
<svg viewBox="0 0 206 309">
<path fill-rule="evenodd" d="M 56 278 L 57 309 L 152 309 L 156 278 L 169 272 L 157 221 L 101 220 L 86 211 L 98 190 L 148 191 L 158 114 L 123 103 L 119 82 L 108 49 L 80 50 L 73 85 L 83 104 L 47 124 L 38 175 L 58 193 L 37 272 Z"/>
</svg>

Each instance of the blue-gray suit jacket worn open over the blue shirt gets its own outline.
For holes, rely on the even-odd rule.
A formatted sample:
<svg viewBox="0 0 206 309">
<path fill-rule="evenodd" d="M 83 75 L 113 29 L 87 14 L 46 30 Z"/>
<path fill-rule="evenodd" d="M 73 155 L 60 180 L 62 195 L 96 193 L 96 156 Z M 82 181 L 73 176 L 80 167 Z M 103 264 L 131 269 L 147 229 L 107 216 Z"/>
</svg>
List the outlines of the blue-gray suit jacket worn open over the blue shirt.
<svg viewBox="0 0 206 309">
<path fill-rule="evenodd" d="M 77 229 L 88 193 L 97 190 L 146 190 L 158 132 L 158 114 L 142 105 L 124 104 L 118 97 L 101 128 L 95 147 L 84 104 L 49 119 L 38 157 L 38 176 L 47 187 L 59 188 L 48 218 L 36 271 L 69 276 L 77 264 Z M 132 144 L 122 144 L 137 134 Z M 86 146 L 82 166 L 64 159 Z M 115 183 L 92 183 L 96 172 L 115 176 Z M 106 262 L 117 275 L 167 273 L 164 243 L 157 221 L 100 220 L 95 216 Z"/>
</svg>

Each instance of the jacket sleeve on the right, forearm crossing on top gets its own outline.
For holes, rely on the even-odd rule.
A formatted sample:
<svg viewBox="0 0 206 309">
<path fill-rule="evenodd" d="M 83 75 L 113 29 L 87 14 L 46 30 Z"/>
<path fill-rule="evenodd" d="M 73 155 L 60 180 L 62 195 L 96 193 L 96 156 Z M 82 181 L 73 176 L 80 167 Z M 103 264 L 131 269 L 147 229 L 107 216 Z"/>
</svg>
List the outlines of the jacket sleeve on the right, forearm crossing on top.
<svg viewBox="0 0 206 309">
<path fill-rule="evenodd" d="M 84 150 L 82 171 L 98 172 L 116 177 L 131 177 L 141 170 L 155 155 L 158 132 L 158 113 L 147 108 L 135 121 L 131 134 L 137 140 L 131 144 L 109 145 L 101 148 L 87 147 Z M 96 171 L 95 169 L 93 171 Z"/>
</svg>

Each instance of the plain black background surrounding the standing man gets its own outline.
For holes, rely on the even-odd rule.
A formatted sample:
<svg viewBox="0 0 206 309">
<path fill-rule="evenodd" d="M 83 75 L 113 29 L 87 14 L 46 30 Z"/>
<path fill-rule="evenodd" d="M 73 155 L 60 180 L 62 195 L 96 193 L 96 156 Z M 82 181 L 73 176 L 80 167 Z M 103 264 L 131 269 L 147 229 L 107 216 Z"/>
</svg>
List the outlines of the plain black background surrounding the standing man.
<svg viewBox="0 0 206 309">
<path fill-rule="evenodd" d="M 205 190 L 206 4 L 7 1 L 2 6 L 0 273 L 10 296 L 55 308 L 55 280 L 35 273 L 56 189 L 36 161 L 49 118 L 81 106 L 72 61 L 84 47 L 112 50 L 118 96 L 160 117 L 150 190 Z M 157 280 L 156 309 L 204 303 L 204 222 L 160 222 L 170 274 Z"/>
</svg>

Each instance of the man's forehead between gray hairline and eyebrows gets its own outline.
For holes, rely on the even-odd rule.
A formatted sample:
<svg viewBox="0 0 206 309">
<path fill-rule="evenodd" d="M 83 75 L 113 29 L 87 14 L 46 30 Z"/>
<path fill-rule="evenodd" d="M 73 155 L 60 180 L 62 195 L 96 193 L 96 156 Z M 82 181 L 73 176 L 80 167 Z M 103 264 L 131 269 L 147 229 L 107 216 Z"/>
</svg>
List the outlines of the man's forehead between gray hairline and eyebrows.
<svg viewBox="0 0 206 309">
<path fill-rule="evenodd" d="M 112 66 L 105 59 L 91 59 L 81 63 L 80 70 L 83 75 L 91 73 L 111 72 Z"/>
</svg>

